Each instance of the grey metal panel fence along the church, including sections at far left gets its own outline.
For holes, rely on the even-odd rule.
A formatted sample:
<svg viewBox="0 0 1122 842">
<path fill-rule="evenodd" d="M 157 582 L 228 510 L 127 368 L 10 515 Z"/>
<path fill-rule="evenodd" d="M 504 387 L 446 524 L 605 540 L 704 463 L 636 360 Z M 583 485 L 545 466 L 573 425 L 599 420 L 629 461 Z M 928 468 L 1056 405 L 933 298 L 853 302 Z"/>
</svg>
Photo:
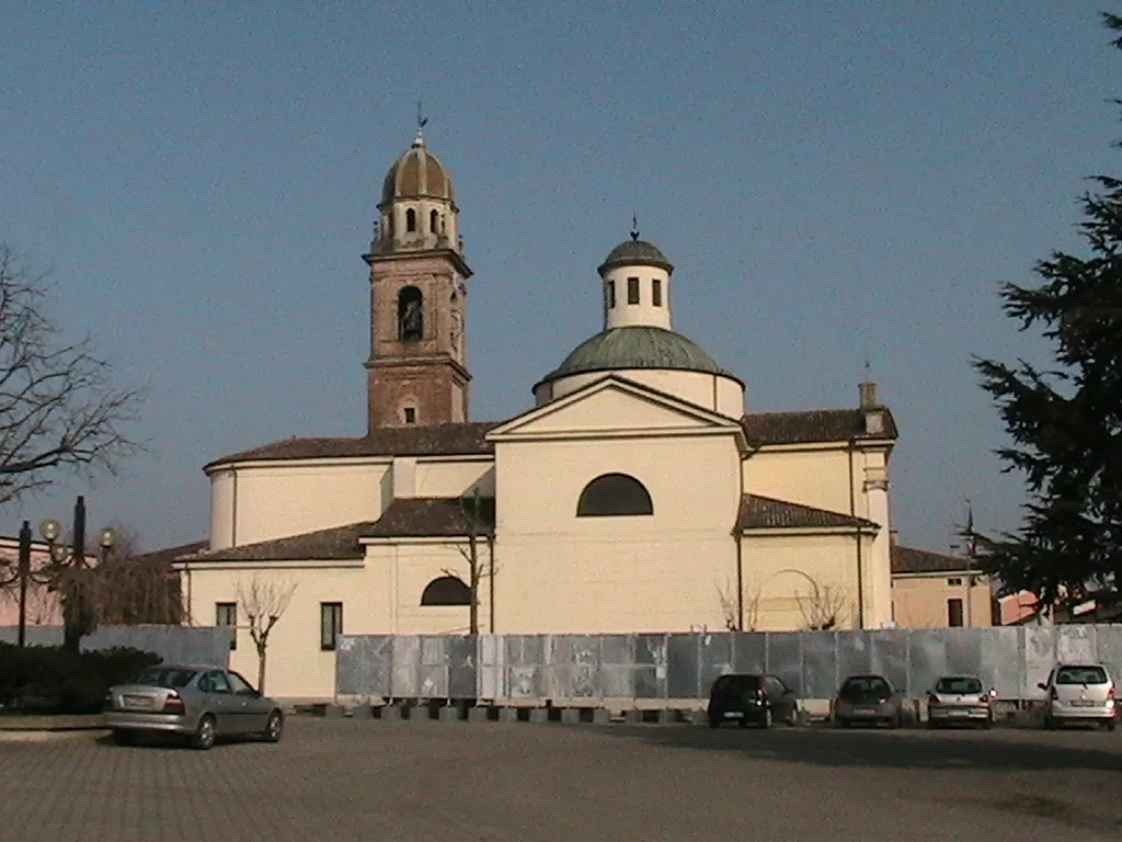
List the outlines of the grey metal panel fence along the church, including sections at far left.
<svg viewBox="0 0 1122 842">
<path fill-rule="evenodd" d="M 183 650 L 173 651 L 173 643 L 194 641 L 190 644 L 202 647 L 205 635 L 224 630 L 185 630 L 194 638 L 183 631 L 160 630 L 144 640 L 136 630 L 122 631 L 122 637 L 107 632 L 90 642 L 140 644 L 180 660 Z M 11 630 L 0 629 L 0 639 L 11 637 Z M 223 637 L 224 647 L 229 637 Z M 939 676 L 966 674 L 978 676 L 1004 698 L 1039 698 L 1037 681 L 1048 677 L 1058 658 L 1101 661 L 1122 677 L 1122 625 L 596 637 L 343 635 L 340 641 L 337 692 L 350 696 L 469 698 L 475 694 L 535 704 L 548 698 L 705 699 L 724 672 L 767 670 L 803 698 L 829 698 L 845 676 L 862 672 L 882 674 L 911 697 L 922 696 Z M 221 655 L 227 652 L 222 649 Z"/>
</svg>

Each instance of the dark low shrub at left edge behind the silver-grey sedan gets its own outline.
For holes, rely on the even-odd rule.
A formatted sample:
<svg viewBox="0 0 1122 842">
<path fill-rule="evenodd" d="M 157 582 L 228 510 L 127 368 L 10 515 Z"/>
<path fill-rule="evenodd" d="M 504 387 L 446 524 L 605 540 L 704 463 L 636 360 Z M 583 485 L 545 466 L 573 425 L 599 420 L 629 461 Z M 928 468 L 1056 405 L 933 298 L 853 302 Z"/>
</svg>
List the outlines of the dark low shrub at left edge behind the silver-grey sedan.
<svg viewBox="0 0 1122 842">
<path fill-rule="evenodd" d="M 105 693 L 160 657 L 117 648 L 68 652 L 62 647 L 0 643 L 0 707 L 28 713 L 98 713 Z"/>
</svg>

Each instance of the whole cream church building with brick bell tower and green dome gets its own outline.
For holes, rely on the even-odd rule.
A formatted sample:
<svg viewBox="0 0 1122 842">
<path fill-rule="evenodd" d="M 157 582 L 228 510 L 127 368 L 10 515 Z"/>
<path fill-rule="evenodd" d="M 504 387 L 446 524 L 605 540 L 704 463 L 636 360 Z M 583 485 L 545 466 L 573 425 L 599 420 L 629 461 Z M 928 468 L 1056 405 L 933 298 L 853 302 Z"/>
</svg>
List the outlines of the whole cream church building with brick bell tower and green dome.
<svg viewBox="0 0 1122 842">
<path fill-rule="evenodd" d="M 472 273 L 421 132 L 378 210 L 365 434 L 204 468 L 210 541 L 177 569 L 192 622 L 241 626 L 234 668 L 256 675 L 247 612 L 278 598 L 268 692 L 301 698 L 331 697 L 341 632 L 891 625 L 896 427 L 874 384 L 849 408 L 749 412 L 744 381 L 674 330 L 675 267 L 632 231 L 605 244 L 603 323 L 524 412 L 476 421 Z"/>
</svg>

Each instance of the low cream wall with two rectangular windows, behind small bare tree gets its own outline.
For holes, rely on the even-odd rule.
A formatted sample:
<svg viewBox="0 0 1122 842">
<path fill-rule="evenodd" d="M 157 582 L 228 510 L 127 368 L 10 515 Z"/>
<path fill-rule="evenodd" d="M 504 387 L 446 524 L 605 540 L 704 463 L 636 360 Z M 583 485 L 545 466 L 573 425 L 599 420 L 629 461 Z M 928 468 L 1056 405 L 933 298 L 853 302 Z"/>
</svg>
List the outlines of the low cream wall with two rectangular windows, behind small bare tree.
<svg viewBox="0 0 1122 842">
<path fill-rule="evenodd" d="M 196 565 L 184 573 L 190 620 L 194 625 L 214 625 L 215 603 L 237 602 L 238 584 L 249 586 L 255 577 L 278 587 L 295 585 L 292 602 L 269 634 L 265 692 L 282 698 L 331 698 L 334 695 L 334 652 L 320 649 L 320 603 L 343 603 L 343 631 L 373 631 L 367 605 L 381 596 L 362 567 L 302 567 L 263 569 Z M 239 623 L 246 617 L 239 607 Z M 250 684 L 257 684 L 257 652 L 245 628 L 238 630 L 238 648 L 230 666 Z"/>
</svg>

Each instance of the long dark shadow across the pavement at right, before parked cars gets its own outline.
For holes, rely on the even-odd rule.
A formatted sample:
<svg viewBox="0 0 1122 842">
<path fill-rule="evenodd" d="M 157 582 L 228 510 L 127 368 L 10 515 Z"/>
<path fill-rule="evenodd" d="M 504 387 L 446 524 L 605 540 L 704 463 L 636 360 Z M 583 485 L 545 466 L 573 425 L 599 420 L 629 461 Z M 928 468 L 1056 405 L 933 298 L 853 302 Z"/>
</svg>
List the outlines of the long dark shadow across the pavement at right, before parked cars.
<svg viewBox="0 0 1122 842">
<path fill-rule="evenodd" d="M 1052 734 L 994 731 L 877 731 L 817 727 L 760 729 L 614 725 L 616 736 L 699 751 L 727 751 L 753 760 L 831 768 L 1046 770 L 1122 772 L 1122 742 L 1100 734 L 1103 748 L 1056 744 Z M 1014 739 L 1009 739 L 1017 733 Z M 1122 782 L 1122 781 L 1120 781 Z"/>
</svg>

